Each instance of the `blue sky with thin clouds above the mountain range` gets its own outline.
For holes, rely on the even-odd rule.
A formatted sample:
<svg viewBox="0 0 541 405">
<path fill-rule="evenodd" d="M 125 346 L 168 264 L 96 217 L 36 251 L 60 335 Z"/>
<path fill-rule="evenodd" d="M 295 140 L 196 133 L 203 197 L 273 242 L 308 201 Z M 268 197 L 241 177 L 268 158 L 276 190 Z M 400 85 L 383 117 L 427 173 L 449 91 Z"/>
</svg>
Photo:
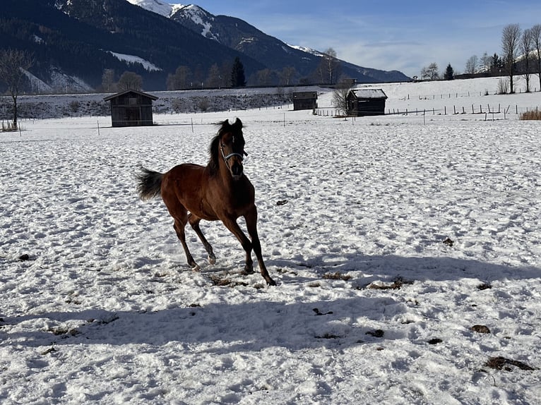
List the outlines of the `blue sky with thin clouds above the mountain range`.
<svg viewBox="0 0 541 405">
<path fill-rule="evenodd" d="M 187 4 L 169 1 L 171 4 Z M 288 44 L 324 51 L 359 66 L 420 75 L 436 62 L 463 72 L 468 58 L 501 53 L 501 30 L 541 24 L 536 0 L 196 0 L 215 15 L 241 18 Z"/>
</svg>

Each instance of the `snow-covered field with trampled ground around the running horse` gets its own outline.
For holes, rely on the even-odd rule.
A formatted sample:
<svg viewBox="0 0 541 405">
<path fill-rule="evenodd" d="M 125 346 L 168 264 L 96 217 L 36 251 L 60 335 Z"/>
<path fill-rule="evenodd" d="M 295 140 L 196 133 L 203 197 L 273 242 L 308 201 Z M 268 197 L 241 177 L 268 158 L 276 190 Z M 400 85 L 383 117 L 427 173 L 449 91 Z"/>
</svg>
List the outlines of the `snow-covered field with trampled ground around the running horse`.
<svg viewBox="0 0 541 405">
<path fill-rule="evenodd" d="M 413 95 L 441 89 L 418 85 L 386 85 L 388 107 L 429 108 Z M 138 164 L 206 164 L 236 116 L 274 287 L 240 274 L 217 222 L 214 266 L 186 231 L 188 270 L 163 203 L 135 191 Z M 539 403 L 539 121 L 174 118 L 0 133 L 1 404 Z"/>
</svg>

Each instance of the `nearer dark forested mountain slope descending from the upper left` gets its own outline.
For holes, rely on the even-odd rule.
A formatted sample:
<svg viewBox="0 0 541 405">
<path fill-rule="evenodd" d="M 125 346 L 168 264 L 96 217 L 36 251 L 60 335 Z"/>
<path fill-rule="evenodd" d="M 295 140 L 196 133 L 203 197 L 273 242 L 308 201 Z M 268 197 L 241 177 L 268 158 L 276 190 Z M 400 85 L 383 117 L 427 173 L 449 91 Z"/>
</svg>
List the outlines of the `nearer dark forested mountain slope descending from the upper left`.
<svg viewBox="0 0 541 405">
<path fill-rule="evenodd" d="M 147 90 L 165 88 L 167 75 L 189 66 L 203 80 L 213 64 L 241 57 L 246 71 L 265 66 L 179 23 L 125 0 L 2 0 L 0 49 L 25 49 L 31 73 L 51 83 L 52 71 L 96 88 L 105 69 L 133 71 Z M 149 66 L 153 68 L 149 69 Z"/>
</svg>

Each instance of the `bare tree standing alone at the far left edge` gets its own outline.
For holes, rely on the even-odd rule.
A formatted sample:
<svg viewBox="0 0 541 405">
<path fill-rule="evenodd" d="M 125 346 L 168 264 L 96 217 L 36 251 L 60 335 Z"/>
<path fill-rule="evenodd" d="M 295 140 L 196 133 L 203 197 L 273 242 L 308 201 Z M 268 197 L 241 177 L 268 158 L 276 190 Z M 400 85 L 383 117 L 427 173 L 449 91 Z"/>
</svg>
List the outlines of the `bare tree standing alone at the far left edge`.
<svg viewBox="0 0 541 405">
<path fill-rule="evenodd" d="M 18 49 L 0 51 L 0 81 L 6 83 L 13 99 L 13 129 L 17 129 L 17 97 L 20 87 L 26 78 L 25 71 L 28 71 L 33 64 L 34 60 L 28 52 Z"/>
</svg>

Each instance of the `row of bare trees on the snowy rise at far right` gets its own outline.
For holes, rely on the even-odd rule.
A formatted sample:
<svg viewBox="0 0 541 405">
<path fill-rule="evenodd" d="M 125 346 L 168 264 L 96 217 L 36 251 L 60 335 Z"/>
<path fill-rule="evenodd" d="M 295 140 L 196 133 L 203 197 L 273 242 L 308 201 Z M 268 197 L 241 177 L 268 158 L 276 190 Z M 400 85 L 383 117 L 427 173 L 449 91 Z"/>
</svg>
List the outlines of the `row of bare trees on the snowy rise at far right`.
<svg viewBox="0 0 541 405">
<path fill-rule="evenodd" d="M 487 52 L 479 58 L 472 55 L 465 62 L 464 75 L 507 76 L 507 83 L 501 85 L 501 92 L 515 92 L 515 76 L 525 78 L 526 92 L 531 91 L 532 76 L 537 74 L 541 90 L 541 24 L 522 30 L 519 24 L 509 24 L 501 32 L 501 54 L 489 55 Z M 458 75 L 451 64 L 441 75 L 438 65 L 433 62 L 421 69 L 422 80 L 453 80 Z M 507 86 L 509 84 L 509 87 Z"/>
</svg>

